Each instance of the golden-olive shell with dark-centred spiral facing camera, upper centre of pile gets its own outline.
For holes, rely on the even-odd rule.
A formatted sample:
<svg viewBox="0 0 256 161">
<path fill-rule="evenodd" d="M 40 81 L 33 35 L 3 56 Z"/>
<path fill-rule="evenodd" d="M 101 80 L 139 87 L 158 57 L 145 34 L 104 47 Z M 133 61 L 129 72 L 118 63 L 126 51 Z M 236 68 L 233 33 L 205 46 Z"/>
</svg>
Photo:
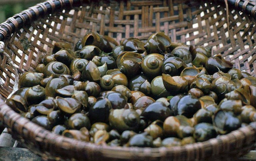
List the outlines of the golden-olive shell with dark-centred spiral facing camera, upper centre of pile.
<svg viewBox="0 0 256 161">
<path fill-rule="evenodd" d="M 161 75 L 161 68 L 164 57 L 160 54 L 150 54 L 142 59 L 141 69 L 146 76 L 156 77 Z"/>
</svg>

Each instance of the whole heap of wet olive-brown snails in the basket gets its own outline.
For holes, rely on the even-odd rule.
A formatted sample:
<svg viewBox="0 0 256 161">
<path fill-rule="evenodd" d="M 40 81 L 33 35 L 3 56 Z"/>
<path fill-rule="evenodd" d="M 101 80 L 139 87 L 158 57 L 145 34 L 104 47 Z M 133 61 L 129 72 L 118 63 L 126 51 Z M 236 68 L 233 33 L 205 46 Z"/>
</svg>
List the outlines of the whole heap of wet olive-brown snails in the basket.
<svg viewBox="0 0 256 161">
<path fill-rule="evenodd" d="M 255 77 L 208 47 L 88 33 L 56 42 L 6 103 L 53 133 L 102 146 L 172 147 L 255 125 Z"/>
</svg>

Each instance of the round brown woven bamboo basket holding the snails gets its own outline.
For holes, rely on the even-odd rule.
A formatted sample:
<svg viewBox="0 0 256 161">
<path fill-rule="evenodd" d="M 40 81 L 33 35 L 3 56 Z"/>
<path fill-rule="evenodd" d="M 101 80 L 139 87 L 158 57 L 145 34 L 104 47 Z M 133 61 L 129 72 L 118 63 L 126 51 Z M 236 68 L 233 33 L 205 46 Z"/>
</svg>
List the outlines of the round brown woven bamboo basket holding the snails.
<svg viewBox="0 0 256 161">
<path fill-rule="evenodd" d="M 6 98 L 19 75 L 36 67 L 55 42 L 74 45 L 87 32 L 146 40 L 163 31 L 172 41 L 212 46 L 235 67 L 255 75 L 255 1 L 227 0 L 83 1 L 50 0 L 14 15 L 0 25 L 0 94 Z M 228 17 L 227 17 L 228 13 Z M 229 27 L 229 30 L 228 30 Z M 9 54 L 9 56 L 8 56 Z M 173 148 L 96 146 L 59 136 L 22 118 L 0 100 L 0 120 L 12 137 L 44 159 L 54 160 L 234 160 L 255 145 L 255 122 L 227 135 Z"/>
</svg>

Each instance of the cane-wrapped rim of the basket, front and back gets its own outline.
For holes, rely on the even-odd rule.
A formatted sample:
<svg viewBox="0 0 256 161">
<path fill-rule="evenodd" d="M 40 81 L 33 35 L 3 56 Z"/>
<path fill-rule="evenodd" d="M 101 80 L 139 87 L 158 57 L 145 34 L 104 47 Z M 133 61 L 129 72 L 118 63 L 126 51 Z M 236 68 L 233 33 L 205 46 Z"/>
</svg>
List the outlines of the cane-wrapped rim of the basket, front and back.
<svg viewBox="0 0 256 161">
<path fill-rule="evenodd" d="M 224 0 L 219 0 L 224 1 Z M 253 17 L 256 17 L 256 9 L 255 3 L 247 3 L 247 6 L 244 6 L 245 1 L 238 1 L 238 5 L 235 6 L 236 3 L 231 3 L 234 0 L 228 0 L 229 4 L 242 10 L 247 9 L 249 4 L 253 5 L 253 8 L 250 13 Z M 237 0 L 236 0 L 237 2 Z M 240 3 L 242 2 L 242 7 Z M 0 24 L 0 40 L 6 40 L 8 35 L 10 36 L 15 30 L 22 27 L 24 24 L 38 19 L 38 17 L 43 16 L 48 13 L 53 13 L 55 10 L 68 8 L 69 6 L 79 6 L 83 3 L 83 0 L 50 0 L 40 3 L 34 7 L 30 7 L 30 10 L 22 11 L 20 14 L 14 15 L 12 18 L 7 19 L 4 23 Z M 30 12 L 30 14 L 28 13 Z M 95 154 L 103 155 L 103 151 L 105 152 L 128 152 L 130 157 L 152 157 L 154 153 L 154 157 L 173 157 L 175 158 L 181 157 L 183 153 L 189 153 L 191 158 L 200 159 L 201 157 L 207 157 L 207 151 L 204 150 L 206 147 L 211 147 L 212 156 L 219 155 L 221 153 L 228 152 L 232 145 L 236 145 L 236 148 L 243 148 L 243 146 L 248 146 L 251 142 L 255 142 L 255 124 L 253 122 L 252 125 L 248 125 L 246 127 L 239 128 L 238 130 L 232 131 L 229 134 L 221 135 L 218 138 L 212 138 L 210 140 L 204 142 L 196 142 L 193 144 L 188 144 L 180 147 L 160 147 L 160 148 L 139 148 L 139 147 L 110 147 L 110 146 L 100 146 L 90 142 L 84 142 L 75 140 L 72 138 L 64 137 L 61 135 L 57 135 L 52 133 L 49 130 L 46 130 L 39 125 L 31 122 L 30 120 L 23 118 L 20 114 L 13 111 L 2 99 L 0 99 L 0 120 L 3 121 L 8 128 L 10 128 L 15 135 L 15 132 L 18 135 L 21 135 L 24 139 L 35 139 L 36 137 L 44 138 L 43 140 L 38 141 L 34 140 L 34 143 L 42 143 L 45 145 L 46 150 L 44 152 L 50 152 L 53 150 L 55 155 L 60 157 L 60 151 L 64 150 L 63 145 L 67 145 L 65 143 L 70 143 L 68 146 L 69 150 L 74 148 L 77 152 L 84 152 L 86 155 L 79 156 L 78 153 L 66 153 L 66 158 L 81 158 L 88 159 L 89 156 Z M 24 128 L 28 131 L 24 131 Z M 18 138 L 19 139 L 19 138 Z M 229 141 L 232 140 L 232 144 Z M 31 141 L 31 140 L 30 140 Z M 247 141 L 247 142 L 246 142 Z M 221 144 L 220 144 L 221 143 Z M 248 143 L 248 144 L 246 144 Z M 49 148 L 51 147 L 51 148 Z M 49 148 L 49 149 L 47 149 Z M 222 149 L 222 151 L 220 151 Z M 58 152 L 58 150 L 60 150 Z M 67 151 L 67 150 L 66 150 Z M 198 155 L 196 155 L 198 153 Z M 201 155 L 199 155 L 201 153 Z M 209 155 L 209 154 L 208 154 Z M 123 154 L 117 155 L 119 157 L 123 157 Z M 113 156 L 116 158 L 117 156 Z M 125 156 L 127 157 L 127 156 Z M 194 157 L 194 158 L 193 158 Z M 122 158 L 124 159 L 124 158 Z M 178 160 L 178 159 L 177 159 Z"/>
</svg>

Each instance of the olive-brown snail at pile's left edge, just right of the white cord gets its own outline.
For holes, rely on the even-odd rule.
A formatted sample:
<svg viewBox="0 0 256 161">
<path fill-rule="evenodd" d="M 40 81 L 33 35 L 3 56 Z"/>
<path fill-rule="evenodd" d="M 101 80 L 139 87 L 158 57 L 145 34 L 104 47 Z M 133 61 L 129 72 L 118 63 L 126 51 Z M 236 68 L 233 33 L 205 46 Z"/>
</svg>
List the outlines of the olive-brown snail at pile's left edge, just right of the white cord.
<svg viewBox="0 0 256 161">
<path fill-rule="evenodd" d="M 36 85 L 40 85 L 41 80 L 43 79 L 42 73 L 37 72 L 25 72 L 21 75 L 19 79 L 19 88 L 23 87 L 33 87 Z"/>
</svg>

